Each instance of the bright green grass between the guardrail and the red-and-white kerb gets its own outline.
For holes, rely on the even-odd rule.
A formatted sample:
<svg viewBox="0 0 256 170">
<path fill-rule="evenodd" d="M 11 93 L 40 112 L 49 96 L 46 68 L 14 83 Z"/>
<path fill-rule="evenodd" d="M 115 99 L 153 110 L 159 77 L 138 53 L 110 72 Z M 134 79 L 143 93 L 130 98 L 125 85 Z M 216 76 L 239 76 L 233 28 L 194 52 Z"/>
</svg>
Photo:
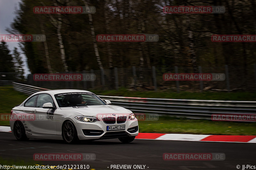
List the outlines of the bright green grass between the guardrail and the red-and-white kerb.
<svg viewBox="0 0 256 170">
<path fill-rule="evenodd" d="M 211 120 L 159 117 L 158 121 L 139 121 L 142 133 L 205 135 L 256 135 L 256 122 L 215 122 Z"/>
</svg>

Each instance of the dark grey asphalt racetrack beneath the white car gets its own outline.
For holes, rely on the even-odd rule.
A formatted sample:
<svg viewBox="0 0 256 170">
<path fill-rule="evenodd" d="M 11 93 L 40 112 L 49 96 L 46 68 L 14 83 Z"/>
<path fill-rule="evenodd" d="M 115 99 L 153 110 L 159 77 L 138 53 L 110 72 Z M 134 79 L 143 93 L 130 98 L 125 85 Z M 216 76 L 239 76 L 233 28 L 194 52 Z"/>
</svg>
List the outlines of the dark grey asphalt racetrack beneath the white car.
<svg viewBox="0 0 256 170">
<path fill-rule="evenodd" d="M 34 153 L 95 153 L 95 161 L 41 161 L 44 165 L 89 165 L 90 169 L 111 169 L 111 165 L 145 165 L 146 170 L 237 169 L 256 166 L 256 144 L 190 142 L 135 139 L 122 144 L 118 139 L 65 144 L 61 140 L 17 141 L 12 133 L 0 132 L 0 157 L 33 160 Z M 220 161 L 163 160 L 163 153 L 225 153 Z M 143 167 L 143 166 L 142 166 Z M 112 168 L 116 169 L 116 168 Z M 133 168 L 131 168 L 133 169 Z"/>
</svg>

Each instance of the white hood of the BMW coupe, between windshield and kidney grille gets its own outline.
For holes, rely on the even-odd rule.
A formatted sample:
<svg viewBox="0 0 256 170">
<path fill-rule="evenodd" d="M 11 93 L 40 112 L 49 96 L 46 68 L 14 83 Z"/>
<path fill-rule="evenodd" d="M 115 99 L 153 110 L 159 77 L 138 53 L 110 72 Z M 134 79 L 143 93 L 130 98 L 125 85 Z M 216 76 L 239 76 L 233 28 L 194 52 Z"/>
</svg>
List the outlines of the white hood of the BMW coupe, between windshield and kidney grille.
<svg viewBox="0 0 256 170">
<path fill-rule="evenodd" d="M 132 111 L 114 105 L 94 105 L 84 107 L 61 107 L 61 110 L 72 111 L 84 116 L 96 116 L 102 114 L 130 114 Z"/>
</svg>

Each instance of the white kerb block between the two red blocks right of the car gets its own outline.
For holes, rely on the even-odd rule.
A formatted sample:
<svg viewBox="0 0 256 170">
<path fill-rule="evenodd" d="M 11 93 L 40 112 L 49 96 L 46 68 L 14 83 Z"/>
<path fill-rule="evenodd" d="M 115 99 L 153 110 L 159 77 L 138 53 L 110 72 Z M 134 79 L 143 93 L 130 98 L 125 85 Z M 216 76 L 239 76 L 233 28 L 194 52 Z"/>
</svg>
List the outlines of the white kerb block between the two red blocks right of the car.
<svg viewBox="0 0 256 170">
<path fill-rule="evenodd" d="M 210 135 L 192 135 L 192 134 L 165 134 L 157 137 L 156 140 L 182 140 L 182 141 L 200 141 Z"/>
</svg>

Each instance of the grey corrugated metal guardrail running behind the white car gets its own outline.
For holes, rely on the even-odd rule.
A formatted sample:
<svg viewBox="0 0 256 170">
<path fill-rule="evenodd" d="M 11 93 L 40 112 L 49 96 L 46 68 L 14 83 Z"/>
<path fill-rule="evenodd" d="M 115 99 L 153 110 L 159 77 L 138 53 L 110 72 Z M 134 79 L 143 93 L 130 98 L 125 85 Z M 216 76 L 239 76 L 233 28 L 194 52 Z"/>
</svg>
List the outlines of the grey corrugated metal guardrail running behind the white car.
<svg viewBox="0 0 256 170">
<path fill-rule="evenodd" d="M 15 90 L 26 94 L 44 91 L 40 87 L 13 83 Z M 255 114 L 256 101 L 154 99 L 135 97 L 99 96 L 133 113 L 151 113 L 193 119 L 211 119 L 212 114 Z"/>
</svg>

